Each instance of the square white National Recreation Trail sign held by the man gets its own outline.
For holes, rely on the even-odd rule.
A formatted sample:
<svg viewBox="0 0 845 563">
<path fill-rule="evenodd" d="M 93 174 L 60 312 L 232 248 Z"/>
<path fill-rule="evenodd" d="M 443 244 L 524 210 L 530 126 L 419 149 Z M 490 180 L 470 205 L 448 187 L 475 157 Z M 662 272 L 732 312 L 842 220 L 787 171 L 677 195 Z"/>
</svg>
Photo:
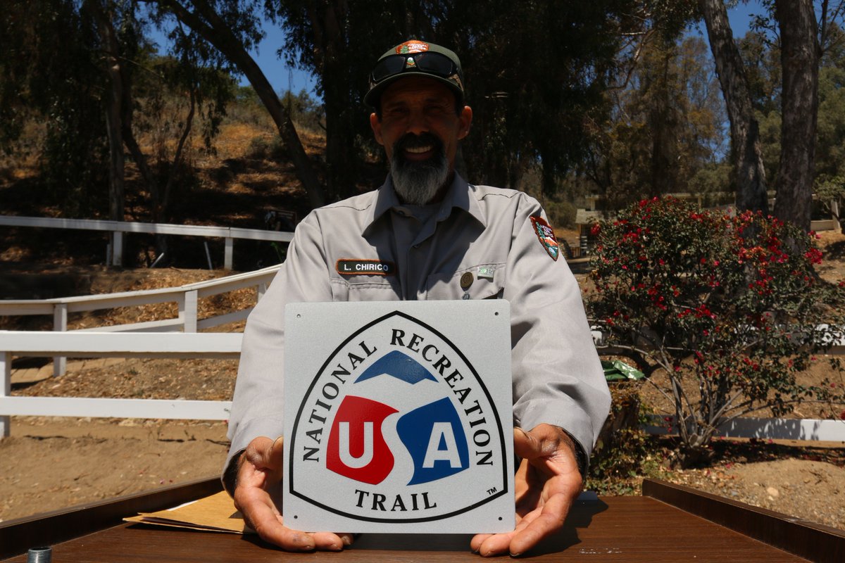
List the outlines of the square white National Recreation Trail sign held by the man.
<svg viewBox="0 0 845 563">
<path fill-rule="evenodd" d="M 474 514 L 477 527 L 477 515 L 504 499 L 507 507 L 485 527 L 513 529 L 510 345 L 506 355 L 499 354 L 508 359 L 507 374 L 497 376 L 488 372 L 488 358 L 479 369 L 460 342 L 418 315 L 395 310 L 395 303 L 393 311 L 362 324 L 357 311 L 364 305 L 298 304 L 353 312 L 341 317 L 355 328 L 341 329 L 343 338 L 334 349 L 325 348 L 319 365 L 309 353 L 303 362 L 313 363 L 310 372 L 292 365 L 300 362 L 286 362 L 286 523 L 431 531 L 436 524 L 425 524 Z M 314 320 L 322 313 L 293 315 L 286 317 L 288 350 L 292 338 L 305 338 L 309 324 L 323 324 Z M 443 324 L 441 316 L 435 321 Z M 479 348 L 488 354 L 487 344 Z M 291 381 L 291 369 L 298 383 Z M 368 523 L 353 529 L 351 522 Z"/>
</svg>

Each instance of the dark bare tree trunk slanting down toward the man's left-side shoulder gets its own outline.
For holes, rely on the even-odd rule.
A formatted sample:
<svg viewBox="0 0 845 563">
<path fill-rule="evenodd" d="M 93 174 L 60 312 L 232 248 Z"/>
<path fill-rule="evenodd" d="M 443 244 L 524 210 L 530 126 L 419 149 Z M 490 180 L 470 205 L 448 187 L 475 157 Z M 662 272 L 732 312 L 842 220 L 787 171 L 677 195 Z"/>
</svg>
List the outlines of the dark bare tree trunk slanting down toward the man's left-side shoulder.
<svg viewBox="0 0 845 563">
<path fill-rule="evenodd" d="M 247 77 L 249 84 L 252 84 L 255 93 L 275 122 L 275 127 L 278 129 L 281 140 L 285 143 L 287 152 L 297 170 L 297 178 L 302 182 L 305 192 L 308 194 L 308 202 L 315 208 L 323 205 L 325 203 L 323 187 L 311 165 L 311 161 L 308 160 L 308 154 L 305 154 L 303 143 L 296 128 L 293 127 L 290 114 L 281 104 L 279 96 L 275 94 L 273 86 L 264 76 L 259 65 L 243 47 L 243 43 L 232 33 L 226 22 L 206 0 L 191 0 L 196 12 L 188 10 L 183 6 L 183 3 L 177 0 L 157 0 L 157 3 L 171 10 L 183 24 L 188 25 L 192 30 L 199 33 L 205 41 L 215 46 Z"/>
</svg>

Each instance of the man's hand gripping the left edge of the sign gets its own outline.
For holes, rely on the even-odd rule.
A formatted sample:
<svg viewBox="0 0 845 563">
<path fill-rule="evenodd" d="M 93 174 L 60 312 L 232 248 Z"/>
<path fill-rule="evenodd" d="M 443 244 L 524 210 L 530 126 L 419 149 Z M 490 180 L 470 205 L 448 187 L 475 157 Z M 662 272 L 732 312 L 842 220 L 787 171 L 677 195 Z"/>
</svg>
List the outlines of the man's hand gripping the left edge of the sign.
<svg viewBox="0 0 845 563">
<path fill-rule="evenodd" d="M 260 436 L 249 442 L 238 461 L 235 506 L 250 528 L 270 544 L 287 551 L 324 549 L 340 551 L 352 544 L 351 533 L 305 533 L 284 525 L 273 499 L 281 503 L 282 461 L 281 438 L 276 441 Z"/>
</svg>

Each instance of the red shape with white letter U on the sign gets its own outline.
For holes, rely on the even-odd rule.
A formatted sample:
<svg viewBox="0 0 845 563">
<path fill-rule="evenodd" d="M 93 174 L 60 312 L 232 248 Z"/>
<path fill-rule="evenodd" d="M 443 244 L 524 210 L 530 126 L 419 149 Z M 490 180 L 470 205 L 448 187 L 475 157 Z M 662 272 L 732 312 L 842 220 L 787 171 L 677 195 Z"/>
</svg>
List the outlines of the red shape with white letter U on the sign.
<svg viewBox="0 0 845 563">
<path fill-rule="evenodd" d="M 384 403 L 347 395 L 331 425 L 326 468 L 362 483 L 381 483 L 393 469 L 381 425 L 397 412 Z"/>
</svg>

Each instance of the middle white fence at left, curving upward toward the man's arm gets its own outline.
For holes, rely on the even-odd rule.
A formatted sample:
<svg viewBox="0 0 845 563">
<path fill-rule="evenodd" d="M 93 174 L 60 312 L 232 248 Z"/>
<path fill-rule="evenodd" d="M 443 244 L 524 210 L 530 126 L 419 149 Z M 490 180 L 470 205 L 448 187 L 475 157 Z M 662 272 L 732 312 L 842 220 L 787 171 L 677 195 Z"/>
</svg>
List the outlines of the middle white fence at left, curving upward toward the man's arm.
<svg viewBox="0 0 845 563">
<path fill-rule="evenodd" d="M 79 297 L 57 297 L 46 300 L 0 300 L 0 317 L 25 315 L 52 315 L 53 330 L 57 333 L 144 333 L 177 332 L 197 333 L 200 330 L 219 327 L 229 322 L 241 321 L 248 317 L 252 307 L 231 311 L 214 317 L 199 318 L 199 300 L 211 295 L 254 287 L 256 300 L 259 300 L 275 273 L 281 266 L 275 265 L 254 272 L 238 273 L 225 278 L 186 284 L 179 287 L 160 290 L 125 291 L 103 295 L 84 295 Z M 115 307 L 142 306 L 156 303 L 176 302 L 178 316 L 157 321 L 134 322 L 110 327 L 83 328 L 68 331 L 68 314 L 84 311 L 99 311 Z M 2 344 L 0 344 L 2 346 Z M 53 360 L 53 375 L 64 374 L 67 362 L 63 356 Z"/>
</svg>

